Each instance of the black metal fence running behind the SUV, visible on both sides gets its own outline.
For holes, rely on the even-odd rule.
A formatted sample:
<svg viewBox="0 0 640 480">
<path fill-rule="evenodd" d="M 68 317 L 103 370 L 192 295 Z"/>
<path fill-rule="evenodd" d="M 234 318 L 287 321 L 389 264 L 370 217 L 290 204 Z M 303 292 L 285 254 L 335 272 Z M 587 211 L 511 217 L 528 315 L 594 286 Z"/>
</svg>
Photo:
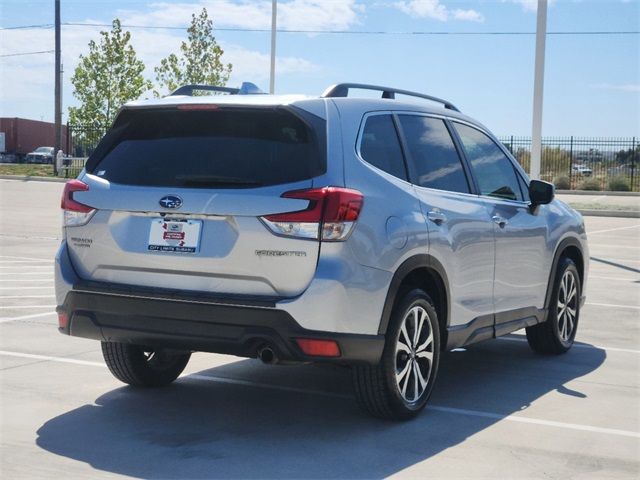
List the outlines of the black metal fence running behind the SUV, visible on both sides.
<svg viewBox="0 0 640 480">
<path fill-rule="evenodd" d="M 101 125 L 68 125 L 67 155 L 88 157 L 106 131 L 107 128 Z M 498 139 L 528 172 L 531 137 L 511 135 Z M 636 137 L 545 137 L 542 139 L 540 178 L 563 190 L 640 191 L 638 141 Z M 69 176 L 82 169 L 76 160 L 73 168 L 65 170 Z"/>
</svg>

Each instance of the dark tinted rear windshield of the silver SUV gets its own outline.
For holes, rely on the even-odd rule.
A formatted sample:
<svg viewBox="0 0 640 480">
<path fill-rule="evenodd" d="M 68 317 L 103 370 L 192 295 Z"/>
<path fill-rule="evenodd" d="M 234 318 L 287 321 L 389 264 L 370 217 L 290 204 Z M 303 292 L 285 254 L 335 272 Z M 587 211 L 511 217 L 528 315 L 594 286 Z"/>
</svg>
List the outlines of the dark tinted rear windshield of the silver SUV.
<svg viewBox="0 0 640 480">
<path fill-rule="evenodd" d="M 87 171 L 115 183 L 168 187 L 310 179 L 326 170 L 324 121 L 300 115 L 309 118 L 284 108 L 124 110 Z"/>
</svg>

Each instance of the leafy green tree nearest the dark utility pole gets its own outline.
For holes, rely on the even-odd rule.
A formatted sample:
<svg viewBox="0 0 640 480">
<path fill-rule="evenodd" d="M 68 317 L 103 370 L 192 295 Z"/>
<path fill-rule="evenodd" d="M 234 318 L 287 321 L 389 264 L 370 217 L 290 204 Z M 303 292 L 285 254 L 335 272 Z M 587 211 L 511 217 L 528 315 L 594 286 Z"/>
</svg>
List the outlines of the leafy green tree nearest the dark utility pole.
<svg viewBox="0 0 640 480">
<path fill-rule="evenodd" d="M 100 41 L 89 42 L 89 54 L 80 55 L 80 62 L 71 77 L 73 95 L 79 107 L 69 108 L 72 124 L 110 125 L 118 109 L 135 100 L 153 84 L 142 76 L 144 63 L 129 43 L 130 32 L 123 32 L 120 20 L 112 23 L 110 32 L 100 32 Z"/>
</svg>

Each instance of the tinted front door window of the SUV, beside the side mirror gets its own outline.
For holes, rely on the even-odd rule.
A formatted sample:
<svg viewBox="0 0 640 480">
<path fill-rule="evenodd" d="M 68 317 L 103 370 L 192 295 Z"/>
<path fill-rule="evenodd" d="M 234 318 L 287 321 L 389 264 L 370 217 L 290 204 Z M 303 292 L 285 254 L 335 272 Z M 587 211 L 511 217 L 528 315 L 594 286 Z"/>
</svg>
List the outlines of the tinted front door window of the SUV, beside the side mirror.
<svg viewBox="0 0 640 480">
<path fill-rule="evenodd" d="M 494 141 L 475 128 L 460 123 L 455 126 L 478 180 L 480 193 L 508 200 L 522 200 L 513 164 Z"/>
</svg>

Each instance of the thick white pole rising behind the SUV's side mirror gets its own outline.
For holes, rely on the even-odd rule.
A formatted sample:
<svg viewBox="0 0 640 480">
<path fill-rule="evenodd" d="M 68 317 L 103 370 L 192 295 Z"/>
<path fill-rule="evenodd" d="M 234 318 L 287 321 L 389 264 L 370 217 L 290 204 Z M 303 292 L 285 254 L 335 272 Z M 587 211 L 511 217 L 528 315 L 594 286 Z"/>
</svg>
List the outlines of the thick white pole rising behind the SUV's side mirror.
<svg viewBox="0 0 640 480">
<path fill-rule="evenodd" d="M 531 131 L 531 178 L 540 179 L 542 157 L 542 97 L 544 91 L 544 50 L 547 37 L 547 0 L 538 0 L 536 22 L 536 64 L 533 81 L 533 125 Z"/>
</svg>

